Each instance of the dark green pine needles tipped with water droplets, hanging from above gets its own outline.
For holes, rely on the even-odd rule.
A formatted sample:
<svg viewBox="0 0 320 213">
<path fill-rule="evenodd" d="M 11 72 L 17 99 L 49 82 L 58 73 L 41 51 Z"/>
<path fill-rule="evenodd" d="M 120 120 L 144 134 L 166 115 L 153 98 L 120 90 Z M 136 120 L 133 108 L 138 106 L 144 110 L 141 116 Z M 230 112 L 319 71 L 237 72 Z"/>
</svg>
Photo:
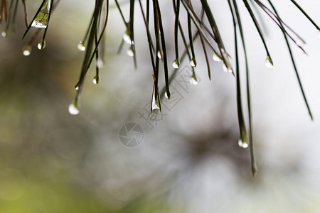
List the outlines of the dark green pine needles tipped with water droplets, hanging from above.
<svg viewBox="0 0 320 213">
<path fill-rule="evenodd" d="M 3 37 L 7 37 L 9 32 L 14 32 L 16 28 L 16 16 L 19 6 L 19 0 L 0 0 L 0 22 L 6 24 L 4 31 L 1 33 Z M 167 0 L 170 1 L 170 0 Z M 236 78 L 237 85 L 237 103 L 238 103 L 238 121 L 240 128 L 240 140 L 239 145 L 246 148 L 250 146 L 250 153 L 252 159 L 252 173 L 255 175 L 257 173 L 257 167 L 255 163 L 255 155 L 253 151 L 253 139 L 252 139 L 252 125 L 251 125 L 251 107 L 250 107 L 250 78 L 249 78 L 249 58 L 247 58 L 247 49 L 245 45 L 245 31 L 242 28 L 242 19 L 241 14 L 238 9 L 238 4 L 244 4 L 247 9 L 247 13 L 250 14 L 252 23 L 254 24 L 261 41 L 265 48 L 266 61 L 265 65 L 267 67 L 273 67 L 272 55 L 268 49 L 267 41 L 265 40 L 264 33 L 260 27 L 261 23 L 256 17 L 255 13 L 262 12 L 266 13 L 269 16 L 270 20 L 276 24 L 284 35 L 284 40 L 287 43 L 287 48 L 289 50 L 289 55 L 292 60 L 292 65 L 297 75 L 299 82 L 299 87 L 302 91 L 304 97 L 304 102 L 309 111 L 309 115 L 312 119 L 311 110 L 309 104 L 306 100 L 306 95 L 304 94 L 304 89 L 302 87 L 302 82 L 300 81 L 296 62 L 294 61 L 294 55 L 292 53 L 292 47 L 290 43 L 297 45 L 304 53 L 303 44 L 304 40 L 292 30 L 284 21 L 282 21 L 281 16 L 279 15 L 277 9 L 271 0 L 260 1 L 260 0 L 225 0 L 228 1 L 228 6 L 230 8 L 230 16 L 233 18 L 233 28 L 234 28 L 234 39 L 235 39 L 235 61 L 231 61 L 231 57 L 228 54 L 228 51 L 225 49 L 223 43 L 223 38 L 220 35 L 218 23 L 215 21 L 215 16 L 213 11 L 210 9 L 210 5 L 207 0 L 172 0 L 172 9 L 175 15 L 175 20 L 172 22 L 172 28 L 174 28 L 174 44 L 175 44 L 175 58 L 169 59 L 166 48 L 166 36 L 164 33 L 164 23 L 162 21 L 163 9 L 159 4 L 159 0 L 127 0 L 118 2 L 118 0 L 95 0 L 95 9 L 92 13 L 92 18 L 90 19 L 89 26 L 83 40 L 80 41 L 78 49 L 85 52 L 84 60 L 82 63 L 82 69 L 80 72 L 80 78 L 78 83 L 75 85 L 76 95 L 72 104 L 69 106 L 70 114 L 79 113 L 79 102 L 80 94 L 82 92 L 83 84 L 85 81 L 85 76 L 87 71 L 92 65 L 92 62 L 95 61 L 95 70 L 96 75 L 93 79 L 95 84 L 100 82 L 100 68 L 103 67 L 104 52 L 103 46 L 104 35 L 106 31 L 106 26 L 108 22 L 109 11 L 111 8 L 117 8 L 121 14 L 122 21 L 125 26 L 125 32 L 123 35 L 123 40 L 120 45 L 119 50 L 122 49 L 123 45 L 127 43 L 129 49 L 127 54 L 132 56 L 134 66 L 137 67 L 136 60 L 136 48 L 134 43 L 134 17 L 135 13 L 140 13 L 144 20 L 144 28 L 146 33 L 146 38 L 148 40 L 149 55 L 153 70 L 154 86 L 151 97 L 151 112 L 154 110 L 161 111 L 161 99 L 166 97 L 170 99 L 170 83 L 174 79 L 176 72 L 180 66 L 180 62 L 186 57 L 190 62 L 193 75 L 190 78 L 191 84 L 197 84 L 197 78 L 194 67 L 197 66 L 195 48 L 193 47 L 193 41 L 197 38 L 201 40 L 201 48 L 203 49 L 204 57 L 206 59 L 206 64 L 208 68 L 208 78 L 211 78 L 210 74 L 210 57 L 216 62 L 223 63 L 223 70 L 225 72 L 230 72 Z M 294 4 L 297 7 L 297 10 L 301 11 L 304 16 L 310 21 L 320 33 L 319 26 L 308 16 L 308 14 L 302 9 L 299 4 L 294 0 L 287 0 L 288 4 Z M 38 37 L 38 35 L 43 30 L 43 37 L 38 43 L 38 49 L 43 50 L 46 47 L 46 33 L 48 31 L 48 26 L 50 23 L 50 17 L 53 13 L 55 7 L 58 5 L 59 0 L 43 0 L 39 6 L 38 11 L 34 14 L 31 22 L 28 21 L 28 9 L 26 6 L 26 0 L 22 0 L 23 11 L 24 11 L 24 22 L 26 24 L 26 32 L 23 35 L 23 38 L 27 33 L 30 32 L 32 27 L 37 28 L 34 32 L 34 35 L 31 37 L 31 40 L 23 48 L 23 55 L 31 54 L 31 46 Z M 123 4 L 129 4 L 129 19 L 125 18 L 125 14 L 122 12 Z M 193 9 L 193 5 L 201 6 L 201 11 L 196 11 Z M 187 26 L 188 29 L 186 32 L 183 31 L 183 26 L 181 26 L 181 10 L 186 11 Z M 166 11 L 167 12 L 167 11 Z M 180 35 L 180 38 L 179 38 Z M 240 66 L 239 66 L 239 43 L 242 44 L 242 52 L 245 55 L 245 75 L 246 75 L 246 97 L 245 100 L 246 109 L 248 110 L 248 116 L 245 118 L 243 114 L 243 102 L 242 102 L 242 92 L 240 84 Z M 178 43 L 183 43 L 183 53 L 179 53 Z M 159 69 L 160 64 L 163 64 L 164 80 L 165 87 L 159 91 Z M 169 75 L 169 65 L 173 66 L 173 71 Z M 234 64 L 234 65 L 233 65 Z M 161 72 L 162 72 L 161 71 Z M 247 125 L 246 125 L 247 124 Z M 248 129 L 246 128 L 248 126 Z"/>
</svg>

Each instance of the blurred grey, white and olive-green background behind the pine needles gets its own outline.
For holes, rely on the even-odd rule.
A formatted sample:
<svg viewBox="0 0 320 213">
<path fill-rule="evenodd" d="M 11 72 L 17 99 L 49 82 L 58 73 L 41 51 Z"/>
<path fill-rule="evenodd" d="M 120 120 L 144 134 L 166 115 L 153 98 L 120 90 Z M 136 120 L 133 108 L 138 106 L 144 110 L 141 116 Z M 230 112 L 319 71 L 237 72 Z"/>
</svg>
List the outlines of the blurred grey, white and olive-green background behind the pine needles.
<svg viewBox="0 0 320 213">
<path fill-rule="evenodd" d="M 127 12 L 129 5 L 122 2 Z M 319 1 L 297 2 L 320 23 Z M 39 4 L 28 2 L 30 17 Z M 114 2 L 110 4 L 101 83 L 92 83 L 95 70 L 90 69 L 77 116 L 68 113 L 68 105 L 75 97 L 84 57 L 77 45 L 90 21 L 93 1 L 61 1 L 50 21 L 46 49 L 38 50 L 36 40 L 28 57 L 22 54 L 30 39 L 21 42 L 22 15 L 16 33 L 0 39 L 1 213 L 320 211 L 320 40 L 290 1 L 274 4 L 307 42 L 308 56 L 292 47 L 314 121 L 309 119 L 282 32 L 262 14 L 274 60 L 269 69 L 262 43 L 239 1 L 251 73 L 259 170 L 255 178 L 249 149 L 238 146 L 235 77 L 212 60 L 209 81 L 198 49 L 198 84 L 188 82 L 190 68 L 183 61 L 172 83 L 173 99 L 164 100 L 162 114 L 150 116 L 153 80 L 141 14 L 137 8 L 134 70 L 126 54 L 129 47 L 116 55 L 125 28 Z M 210 4 L 226 48 L 234 55 L 227 1 Z M 171 1 L 161 1 L 161 8 L 171 62 Z M 4 27 L 2 23 L 1 30 Z M 199 40 L 196 45 L 201 45 Z M 139 144 L 126 146 L 120 141 L 125 124 L 141 127 Z M 124 138 L 132 136 L 131 132 Z"/>
</svg>

